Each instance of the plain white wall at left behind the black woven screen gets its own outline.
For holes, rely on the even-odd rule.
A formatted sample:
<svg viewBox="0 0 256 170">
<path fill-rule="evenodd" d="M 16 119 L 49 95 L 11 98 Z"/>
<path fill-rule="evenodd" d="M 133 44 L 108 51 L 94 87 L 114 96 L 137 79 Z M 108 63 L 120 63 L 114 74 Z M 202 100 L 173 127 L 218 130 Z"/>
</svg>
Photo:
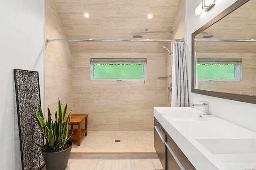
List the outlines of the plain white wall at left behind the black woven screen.
<svg viewBox="0 0 256 170">
<path fill-rule="evenodd" d="M 13 69 L 39 71 L 44 105 L 44 0 L 0 0 L 0 169 L 21 169 Z"/>
</svg>

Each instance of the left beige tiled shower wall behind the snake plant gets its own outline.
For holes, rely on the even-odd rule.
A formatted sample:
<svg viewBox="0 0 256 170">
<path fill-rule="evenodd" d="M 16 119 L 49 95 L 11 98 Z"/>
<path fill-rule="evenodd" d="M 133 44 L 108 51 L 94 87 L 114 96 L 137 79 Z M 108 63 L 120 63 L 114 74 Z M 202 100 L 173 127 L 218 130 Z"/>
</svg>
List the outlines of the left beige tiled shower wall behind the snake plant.
<svg viewBox="0 0 256 170">
<path fill-rule="evenodd" d="M 45 0 L 45 38 L 66 39 L 60 18 L 52 0 Z M 67 42 L 45 45 L 45 108 L 55 113 L 58 98 L 72 109 L 72 53 Z M 64 106 L 62 106 L 64 107 Z"/>
</svg>

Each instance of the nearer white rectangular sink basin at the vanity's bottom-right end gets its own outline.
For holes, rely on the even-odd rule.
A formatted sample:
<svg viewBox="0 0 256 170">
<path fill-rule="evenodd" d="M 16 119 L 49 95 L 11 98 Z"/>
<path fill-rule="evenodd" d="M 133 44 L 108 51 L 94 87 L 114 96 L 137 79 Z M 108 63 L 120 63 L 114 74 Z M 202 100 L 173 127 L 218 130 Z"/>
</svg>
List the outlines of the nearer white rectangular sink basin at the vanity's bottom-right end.
<svg viewBox="0 0 256 170">
<path fill-rule="evenodd" d="M 235 170 L 256 167 L 256 139 L 196 139 L 204 148 Z"/>
</svg>

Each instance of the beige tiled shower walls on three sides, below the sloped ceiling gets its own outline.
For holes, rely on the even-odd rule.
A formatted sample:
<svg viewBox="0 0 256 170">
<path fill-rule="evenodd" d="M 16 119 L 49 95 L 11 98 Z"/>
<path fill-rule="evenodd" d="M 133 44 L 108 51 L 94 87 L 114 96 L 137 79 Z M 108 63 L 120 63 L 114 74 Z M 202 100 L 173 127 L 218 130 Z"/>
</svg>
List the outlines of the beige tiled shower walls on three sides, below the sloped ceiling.
<svg viewBox="0 0 256 170">
<path fill-rule="evenodd" d="M 66 39 L 52 0 L 45 6 L 45 38 Z M 184 0 L 178 10 L 171 39 L 185 38 Z M 147 81 L 90 81 L 90 58 L 110 57 L 147 58 Z M 74 105 L 72 113 L 89 114 L 88 130 L 153 130 L 153 107 L 168 107 L 169 74 L 170 55 L 164 51 L 72 54 L 67 42 L 50 42 L 45 49 L 45 111 L 48 105 L 55 111 L 60 97 L 69 109 Z"/>
</svg>

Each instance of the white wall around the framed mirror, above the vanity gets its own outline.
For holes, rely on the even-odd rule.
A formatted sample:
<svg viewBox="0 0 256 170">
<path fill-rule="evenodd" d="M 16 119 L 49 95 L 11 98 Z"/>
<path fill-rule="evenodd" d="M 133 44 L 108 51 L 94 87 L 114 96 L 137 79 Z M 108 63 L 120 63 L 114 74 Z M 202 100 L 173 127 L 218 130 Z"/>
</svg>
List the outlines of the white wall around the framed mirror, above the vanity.
<svg viewBox="0 0 256 170">
<path fill-rule="evenodd" d="M 228 8 L 236 0 L 216 0 L 216 5 L 200 16 L 194 16 L 194 9 L 201 0 L 186 0 L 186 59 L 188 67 L 190 106 L 199 101 L 209 101 L 210 113 L 256 132 L 256 105 L 206 95 L 191 93 L 191 34 L 212 18 Z"/>
</svg>

